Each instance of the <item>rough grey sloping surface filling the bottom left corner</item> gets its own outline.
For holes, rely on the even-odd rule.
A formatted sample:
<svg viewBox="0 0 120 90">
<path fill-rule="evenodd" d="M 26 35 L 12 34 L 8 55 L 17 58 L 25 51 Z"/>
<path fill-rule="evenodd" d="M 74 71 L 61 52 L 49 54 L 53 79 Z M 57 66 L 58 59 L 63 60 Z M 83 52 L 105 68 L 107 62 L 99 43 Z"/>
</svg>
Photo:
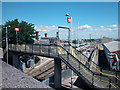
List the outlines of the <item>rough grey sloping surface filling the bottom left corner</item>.
<svg viewBox="0 0 120 90">
<path fill-rule="evenodd" d="M 1 88 L 50 88 L 22 71 L 0 60 L 0 89 Z"/>
</svg>

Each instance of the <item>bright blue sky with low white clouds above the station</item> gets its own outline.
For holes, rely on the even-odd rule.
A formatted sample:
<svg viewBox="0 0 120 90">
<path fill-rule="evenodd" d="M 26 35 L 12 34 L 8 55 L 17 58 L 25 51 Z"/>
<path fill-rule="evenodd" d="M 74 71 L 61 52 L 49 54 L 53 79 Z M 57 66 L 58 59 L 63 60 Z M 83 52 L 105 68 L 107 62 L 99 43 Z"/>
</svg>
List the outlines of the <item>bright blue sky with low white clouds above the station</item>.
<svg viewBox="0 0 120 90">
<path fill-rule="evenodd" d="M 3 2 L 2 23 L 18 19 L 33 23 L 40 38 L 44 33 L 56 37 L 58 26 L 69 27 L 66 13 L 72 17 L 71 38 L 118 38 L 118 2 Z M 78 25 L 79 23 L 79 25 Z M 78 30 L 79 29 L 79 30 Z M 68 39 L 68 30 L 59 29 L 60 39 Z"/>
</svg>

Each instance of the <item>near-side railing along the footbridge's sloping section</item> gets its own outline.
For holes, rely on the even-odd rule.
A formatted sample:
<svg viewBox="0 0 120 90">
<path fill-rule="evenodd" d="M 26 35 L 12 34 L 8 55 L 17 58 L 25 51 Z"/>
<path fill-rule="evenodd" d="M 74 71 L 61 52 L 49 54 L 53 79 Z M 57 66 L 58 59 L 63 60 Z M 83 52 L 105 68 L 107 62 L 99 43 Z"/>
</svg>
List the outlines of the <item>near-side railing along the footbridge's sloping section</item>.
<svg viewBox="0 0 120 90">
<path fill-rule="evenodd" d="M 113 80 L 111 80 L 109 77 L 106 77 L 104 75 L 94 74 L 94 72 L 92 72 L 89 68 L 87 68 L 84 64 L 82 64 L 78 59 L 76 59 L 64 48 L 61 47 L 58 48 L 58 50 L 62 51 L 62 54 L 59 53 L 59 56 L 61 56 L 64 60 L 66 60 L 66 62 L 68 62 L 73 68 L 75 68 L 75 70 L 77 70 L 93 86 L 99 88 L 119 88 L 118 85 L 116 85 L 116 83 Z"/>
</svg>

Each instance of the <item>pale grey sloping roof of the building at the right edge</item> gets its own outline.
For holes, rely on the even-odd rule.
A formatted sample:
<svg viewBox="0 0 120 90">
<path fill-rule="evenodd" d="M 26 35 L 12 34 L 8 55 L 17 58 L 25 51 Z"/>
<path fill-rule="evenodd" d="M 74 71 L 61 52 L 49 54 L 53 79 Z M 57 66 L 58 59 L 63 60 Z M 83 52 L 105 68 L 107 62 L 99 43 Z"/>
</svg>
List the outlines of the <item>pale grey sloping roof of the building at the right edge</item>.
<svg viewBox="0 0 120 90">
<path fill-rule="evenodd" d="M 104 43 L 104 45 L 110 52 L 115 52 L 120 50 L 120 41 L 112 41 L 112 42 Z"/>
</svg>

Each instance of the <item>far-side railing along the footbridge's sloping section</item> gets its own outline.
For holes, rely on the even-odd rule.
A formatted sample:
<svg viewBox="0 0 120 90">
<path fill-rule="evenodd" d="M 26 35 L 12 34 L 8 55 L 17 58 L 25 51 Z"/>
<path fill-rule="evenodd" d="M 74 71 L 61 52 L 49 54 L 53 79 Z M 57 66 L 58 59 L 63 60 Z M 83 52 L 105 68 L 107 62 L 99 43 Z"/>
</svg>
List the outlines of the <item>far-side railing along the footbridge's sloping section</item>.
<svg viewBox="0 0 120 90">
<path fill-rule="evenodd" d="M 120 84 L 120 72 L 118 72 L 118 71 L 115 72 L 115 71 L 104 70 L 104 69 L 102 69 L 102 67 L 98 66 L 92 60 L 88 60 L 88 57 L 86 57 L 81 52 L 77 51 L 72 46 L 71 46 L 71 50 L 72 50 L 72 52 L 74 52 L 74 53 L 72 53 L 72 55 L 75 58 L 77 58 L 81 63 L 83 63 L 84 65 L 86 65 L 87 68 L 89 68 L 90 70 L 94 71 L 96 74 L 98 73 L 99 75 L 109 76 L 116 83 Z M 91 56 L 90 59 L 92 59 L 93 56 L 94 56 L 94 54 Z"/>
</svg>

